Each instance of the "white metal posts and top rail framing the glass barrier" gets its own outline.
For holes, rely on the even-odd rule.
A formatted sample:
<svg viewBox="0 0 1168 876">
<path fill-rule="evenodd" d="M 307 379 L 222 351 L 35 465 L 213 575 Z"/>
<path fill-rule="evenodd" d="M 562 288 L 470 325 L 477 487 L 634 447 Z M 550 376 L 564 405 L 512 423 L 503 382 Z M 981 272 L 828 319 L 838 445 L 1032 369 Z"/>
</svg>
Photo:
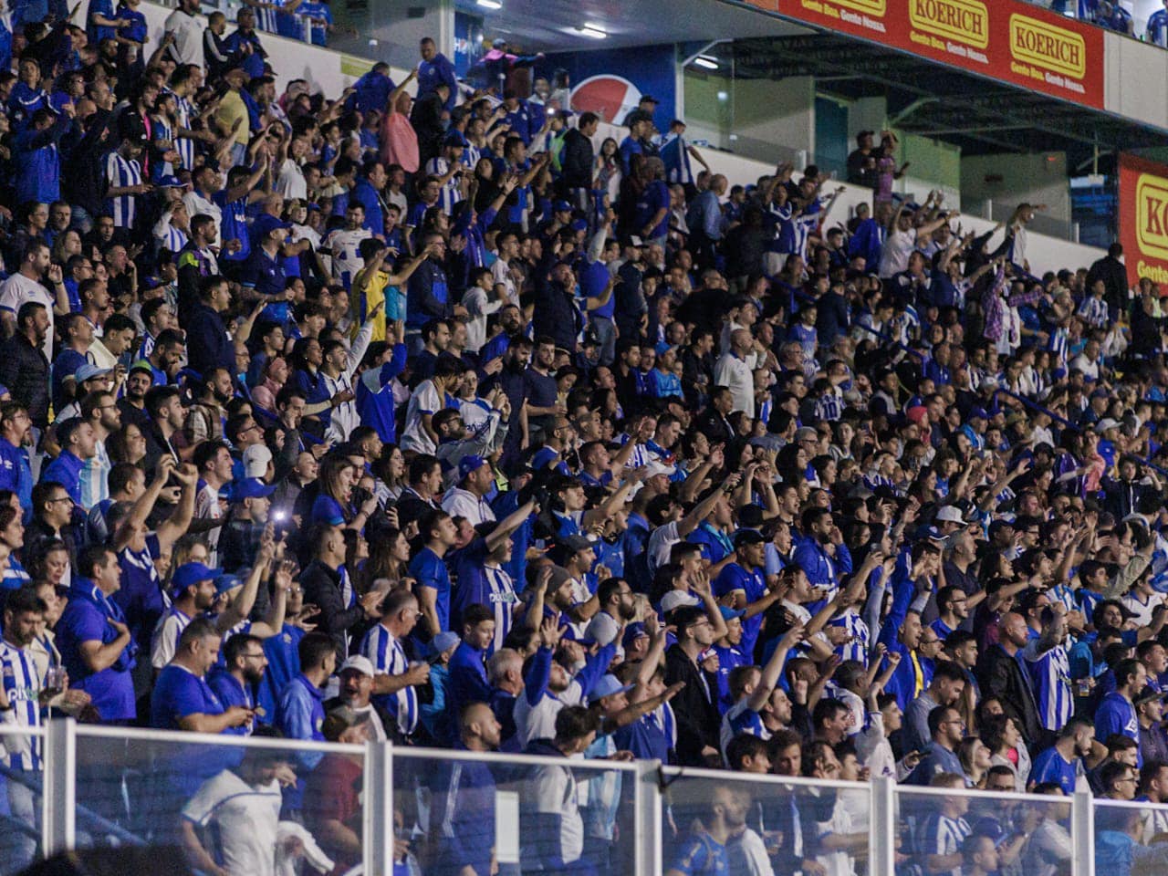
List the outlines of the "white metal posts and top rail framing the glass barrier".
<svg viewBox="0 0 1168 876">
<path fill-rule="evenodd" d="M 675 806 L 693 806 L 695 801 L 708 800 L 704 792 L 714 787 L 732 786 L 748 788 L 755 801 L 767 804 L 793 798 L 799 806 L 813 805 L 825 799 L 825 791 L 847 792 L 854 808 L 867 814 L 868 868 L 870 876 L 896 876 L 897 836 L 912 812 L 918 819 L 940 811 L 939 807 L 954 798 L 967 798 L 981 815 L 995 819 L 1011 819 L 1024 807 L 1050 806 L 1050 819 L 1058 821 L 1070 834 L 1073 848 L 1071 856 L 1073 876 L 1096 876 L 1094 832 L 1096 814 L 1108 807 L 1127 807 L 1155 812 L 1168 823 L 1168 805 L 1149 802 L 1119 802 L 1096 800 L 1089 792 L 1078 792 L 1071 798 L 1044 797 L 1017 793 L 989 793 L 951 788 L 897 785 L 891 779 L 877 778 L 870 783 L 832 781 L 822 779 L 790 778 L 783 776 L 757 776 L 718 770 L 662 766 L 658 762 L 582 760 L 557 757 L 531 757 L 523 755 L 480 753 L 444 749 L 413 749 L 394 746 L 389 743 L 362 745 L 336 745 L 301 742 L 294 739 L 270 739 L 208 734 L 164 732 L 112 726 L 78 725 L 71 719 L 50 722 L 43 729 L 25 730 L 0 724 L 0 746 L 6 738 L 21 736 L 42 743 L 42 769 L 39 773 L 12 770 L 8 758 L 0 767 L 0 793 L 6 783 L 21 781 L 40 797 L 41 849 L 46 856 L 57 851 L 84 846 L 86 834 L 93 841 L 95 834 L 109 826 L 110 836 L 98 836 L 98 842 L 123 842 L 124 828 L 111 825 L 95 811 L 99 808 L 102 795 L 116 791 L 127 799 L 133 792 L 126 776 L 148 783 L 155 778 L 151 770 L 166 766 L 182 755 L 182 763 L 202 765 L 218 764 L 222 752 L 237 750 L 242 758 L 249 751 L 286 751 L 292 753 L 332 753 L 357 756 L 362 760 L 361 861 L 363 872 L 369 876 L 391 876 L 395 857 L 395 806 L 410 809 L 418 795 L 418 785 L 424 785 L 437 769 L 451 763 L 486 764 L 498 779 L 496 799 L 502 793 L 510 794 L 512 802 L 519 794 L 503 787 L 516 786 L 522 791 L 527 773 L 515 767 L 557 766 L 571 770 L 579 783 L 599 776 L 623 777 L 621 795 L 617 807 L 621 851 L 631 861 L 628 870 L 633 876 L 656 876 L 669 869 L 674 843 L 679 839 L 670 834 L 672 809 Z M 120 745 L 119 745 L 120 743 Z M 196 750 L 207 749 L 206 757 Z M 214 750 L 221 753 L 213 756 Z M 197 757 L 193 755 L 197 753 Z M 107 766 L 109 776 L 93 780 L 95 767 Z M 508 769 L 510 767 L 510 769 Z M 208 767 L 210 769 L 210 767 Z M 161 770 L 160 781 L 167 776 Z M 190 776 L 182 778 L 190 779 Z M 199 777 L 195 777 L 196 780 Z M 301 777 L 303 778 L 303 777 Z M 412 784 L 411 784 L 412 783 Z M 860 801 L 863 802 L 860 802 Z M 151 798 L 137 802 L 148 805 Z M 130 800 L 132 808 L 134 800 Z M 909 809 L 905 809 L 905 805 Z M 1057 808 L 1056 808 L 1057 807 Z M 152 811 L 153 812 L 153 811 Z M 158 818 L 165 807 L 158 811 Z M 1013 814 L 1011 814 L 1013 813 Z M 1069 813 L 1069 818 L 1068 818 Z M 78 819 L 81 816 L 81 819 Z M 806 815 L 805 815 L 806 818 Z M 79 820 L 84 828 L 79 827 Z M 92 827 L 97 825 L 97 827 Z M 426 825 L 422 825 L 424 828 Z M 409 828 L 410 825 L 406 825 Z M 517 826 L 516 826 L 517 827 Z M 684 829 L 681 825 L 680 829 Z M 509 829 L 503 826 L 502 829 Z M 117 834 L 113 832 L 121 830 Z M 520 833 L 517 829 L 514 832 Z M 498 834 L 496 834 L 498 835 Z M 515 841 L 517 848 L 517 840 Z M 515 863 L 519 863 L 515 861 Z M 524 869 L 526 862 L 524 862 Z M 614 869 L 616 871 L 616 869 Z M 7 872 L 0 861 L 0 874 Z M 425 872 L 425 868 L 423 868 Z"/>
</svg>

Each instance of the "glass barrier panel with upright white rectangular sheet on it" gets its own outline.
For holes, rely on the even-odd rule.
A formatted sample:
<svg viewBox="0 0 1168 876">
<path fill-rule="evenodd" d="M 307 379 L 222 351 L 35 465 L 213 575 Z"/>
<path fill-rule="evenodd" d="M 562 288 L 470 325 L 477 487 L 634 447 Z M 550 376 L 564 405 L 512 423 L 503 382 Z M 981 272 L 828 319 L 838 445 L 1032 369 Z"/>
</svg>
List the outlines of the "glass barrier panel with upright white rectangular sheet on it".
<svg viewBox="0 0 1168 876">
<path fill-rule="evenodd" d="M 631 765 L 599 759 L 396 748 L 395 865 L 417 876 L 632 874 L 635 785 Z"/>
</svg>

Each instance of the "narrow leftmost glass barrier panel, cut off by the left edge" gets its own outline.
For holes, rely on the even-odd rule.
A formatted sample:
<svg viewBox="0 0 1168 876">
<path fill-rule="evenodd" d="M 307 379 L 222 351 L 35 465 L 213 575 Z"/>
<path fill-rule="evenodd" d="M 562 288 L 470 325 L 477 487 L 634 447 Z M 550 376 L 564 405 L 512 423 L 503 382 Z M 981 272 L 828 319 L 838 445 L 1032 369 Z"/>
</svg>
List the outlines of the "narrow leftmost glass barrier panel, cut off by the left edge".
<svg viewBox="0 0 1168 876">
<path fill-rule="evenodd" d="M 20 872 L 41 855 L 43 779 L 43 732 L 0 728 L 0 876 Z"/>
</svg>

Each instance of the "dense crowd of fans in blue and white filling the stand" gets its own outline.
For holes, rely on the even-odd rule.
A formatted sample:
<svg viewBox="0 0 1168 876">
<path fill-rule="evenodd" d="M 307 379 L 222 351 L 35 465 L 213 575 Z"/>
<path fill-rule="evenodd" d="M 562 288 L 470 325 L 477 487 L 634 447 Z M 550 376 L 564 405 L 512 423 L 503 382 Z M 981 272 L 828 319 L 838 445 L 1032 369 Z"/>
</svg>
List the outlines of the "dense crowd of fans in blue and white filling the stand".
<svg viewBox="0 0 1168 876">
<path fill-rule="evenodd" d="M 648 97 L 596 142 L 562 71 L 468 91 L 425 40 L 277 93 L 252 5 L 157 49 L 137 6 L 37 7 L 0 74 L 6 726 L 1168 801 L 1164 311 L 1118 246 L 1033 273 L 1040 207 L 898 200 L 891 132 L 849 216 Z M 43 751 L 4 748 L 12 870 Z M 357 863 L 360 759 L 248 751 L 85 766 L 200 871 Z M 523 871 L 626 871 L 610 779 L 521 779 Z M 402 871 L 494 872 L 516 779 L 408 780 Z M 904 872 L 1070 872 L 1065 804 L 946 800 Z M 865 865 L 842 793 L 703 806 L 670 874 Z M 1168 821 L 1117 813 L 1121 872 Z"/>
</svg>

